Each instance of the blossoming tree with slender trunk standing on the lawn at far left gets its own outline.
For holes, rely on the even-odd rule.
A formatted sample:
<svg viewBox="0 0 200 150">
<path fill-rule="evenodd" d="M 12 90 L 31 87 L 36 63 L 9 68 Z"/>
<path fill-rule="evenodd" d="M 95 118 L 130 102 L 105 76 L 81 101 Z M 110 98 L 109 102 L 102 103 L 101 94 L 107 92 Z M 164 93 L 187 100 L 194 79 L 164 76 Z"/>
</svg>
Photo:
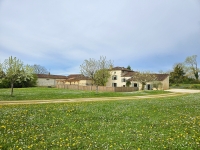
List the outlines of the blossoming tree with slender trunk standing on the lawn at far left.
<svg viewBox="0 0 200 150">
<path fill-rule="evenodd" d="M 23 62 L 16 57 L 9 57 L 1 65 L 4 77 L 0 80 L 6 79 L 11 85 L 11 96 L 13 95 L 14 83 L 22 82 L 33 78 L 33 70 L 29 65 L 24 66 Z"/>
</svg>

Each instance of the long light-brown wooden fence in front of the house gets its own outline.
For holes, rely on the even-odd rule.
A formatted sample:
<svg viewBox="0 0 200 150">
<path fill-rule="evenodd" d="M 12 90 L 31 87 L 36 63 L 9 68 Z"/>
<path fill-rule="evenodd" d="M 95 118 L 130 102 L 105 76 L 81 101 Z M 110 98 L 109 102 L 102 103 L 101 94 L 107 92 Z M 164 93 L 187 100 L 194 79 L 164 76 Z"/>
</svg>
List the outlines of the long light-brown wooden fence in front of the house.
<svg viewBox="0 0 200 150">
<path fill-rule="evenodd" d="M 57 84 L 57 88 L 59 88 L 59 89 L 71 89 L 71 90 L 83 90 L 83 91 L 96 91 L 96 86 Z M 133 91 L 138 91 L 138 88 L 137 87 L 98 86 L 98 91 L 102 91 L 102 92 L 133 92 Z"/>
</svg>

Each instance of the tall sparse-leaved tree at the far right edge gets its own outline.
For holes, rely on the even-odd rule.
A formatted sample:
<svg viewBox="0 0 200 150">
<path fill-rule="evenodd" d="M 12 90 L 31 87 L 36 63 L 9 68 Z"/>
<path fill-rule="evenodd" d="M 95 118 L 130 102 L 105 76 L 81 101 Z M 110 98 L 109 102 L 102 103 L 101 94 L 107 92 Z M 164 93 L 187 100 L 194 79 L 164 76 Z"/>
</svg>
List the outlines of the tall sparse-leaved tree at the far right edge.
<svg viewBox="0 0 200 150">
<path fill-rule="evenodd" d="M 184 62 L 186 66 L 186 72 L 188 75 L 193 75 L 196 80 L 199 79 L 200 68 L 198 68 L 197 64 L 197 55 L 188 56 Z"/>
</svg>

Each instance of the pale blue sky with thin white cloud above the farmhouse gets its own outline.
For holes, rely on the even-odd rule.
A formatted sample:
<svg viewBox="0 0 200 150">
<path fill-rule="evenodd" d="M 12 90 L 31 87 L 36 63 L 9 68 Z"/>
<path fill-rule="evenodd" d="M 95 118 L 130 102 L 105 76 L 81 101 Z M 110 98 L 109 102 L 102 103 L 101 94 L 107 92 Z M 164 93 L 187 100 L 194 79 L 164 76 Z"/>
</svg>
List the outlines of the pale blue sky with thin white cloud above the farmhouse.
<svg viewBox="0 0 200 150">
<path fill-rule="evenodd" d="M 0 0 L 0 62 L 69 75 L 105 56 L 166 72 L 192 55 L 200 66 L 200 0 Z"/>
</svg>

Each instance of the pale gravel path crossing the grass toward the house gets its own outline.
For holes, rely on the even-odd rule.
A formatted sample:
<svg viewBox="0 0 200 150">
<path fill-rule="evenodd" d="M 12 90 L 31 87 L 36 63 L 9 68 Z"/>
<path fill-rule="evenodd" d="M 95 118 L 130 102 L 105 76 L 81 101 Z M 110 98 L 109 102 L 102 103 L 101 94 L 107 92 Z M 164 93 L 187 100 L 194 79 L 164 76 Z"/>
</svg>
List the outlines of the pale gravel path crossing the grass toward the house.
<svg viewBox="0 0 200 150">
<path fill-rule="evenodd" d="M 18 101 L 0 101 L 0 105 L 19 105 L 19 104 L 47 104 L 47 103 L 72 103 L 89 101 L 111 101 L 111 100 L 134 100 L 147 98 L 171 97 L 187 94 L 188 92 L 172 92 L 158 95 L 145 96 L 126 96 L 126 97 L 100 97 L 100 98 L 77 98 L 77 99 L 52 99 L 52 100 L 18 100 Z"/>
</svg>

